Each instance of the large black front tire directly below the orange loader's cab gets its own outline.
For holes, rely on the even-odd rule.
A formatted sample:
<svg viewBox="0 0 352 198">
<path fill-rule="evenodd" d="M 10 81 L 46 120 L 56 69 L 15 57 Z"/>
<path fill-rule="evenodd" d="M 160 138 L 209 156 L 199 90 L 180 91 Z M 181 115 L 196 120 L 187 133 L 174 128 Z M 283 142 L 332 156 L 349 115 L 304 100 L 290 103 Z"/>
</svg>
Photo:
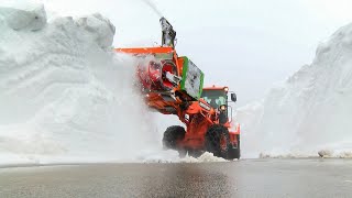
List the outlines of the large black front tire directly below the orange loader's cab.
<svg viewBox="0 0 352 198">
<path fill-rule="evenodd" d="M 221 147 L 221 138 L 226 139 L 226 147 Z M 221 124 L 211 125 L 206 133 L 206 150 L 215 156 L 228 158 L 228 151 L 231 147 L 228 128 Z"/>
</svg>

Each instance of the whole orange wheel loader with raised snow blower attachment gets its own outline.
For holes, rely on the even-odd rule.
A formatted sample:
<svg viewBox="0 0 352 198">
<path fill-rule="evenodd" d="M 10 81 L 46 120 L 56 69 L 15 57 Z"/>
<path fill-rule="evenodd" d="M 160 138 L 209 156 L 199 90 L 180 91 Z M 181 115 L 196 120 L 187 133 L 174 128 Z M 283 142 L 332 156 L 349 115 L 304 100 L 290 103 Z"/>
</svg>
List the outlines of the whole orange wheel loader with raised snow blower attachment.
<svg viewBox="0 0 352 198">
<path fill-rule="evenodd" d="M 138 59 L 138 86 L 145 103 L 163 114 L 176 114 L 183 127 L 166 129 L 165 148 L 199 156 L 208 151 L 228 160 L 240 158 L 240 127 L 233 125 L 228 87 L 204 88 L 204 73 L 186 56 L 175 51 L 176 32 L 165 18 L 162 25 L 162 46 L 117 48 Z M 234 129 L 232 129 L 234 128 Z M 230 131 L 229 131 L 230 130 Z"/>
</svg>

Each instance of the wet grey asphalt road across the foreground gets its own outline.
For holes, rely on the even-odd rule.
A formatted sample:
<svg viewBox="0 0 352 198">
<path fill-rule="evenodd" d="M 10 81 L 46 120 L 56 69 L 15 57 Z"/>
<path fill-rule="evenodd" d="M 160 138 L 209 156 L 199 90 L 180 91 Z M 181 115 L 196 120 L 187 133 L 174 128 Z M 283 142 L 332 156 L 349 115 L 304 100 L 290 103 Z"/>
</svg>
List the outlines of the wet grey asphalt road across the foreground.
<svg viewBox="0 0 352 198">
<path fill-rule="evenodd" d="M 0 197 L 352 197 L 352 161 L 0 168 Z"/>
</svg>

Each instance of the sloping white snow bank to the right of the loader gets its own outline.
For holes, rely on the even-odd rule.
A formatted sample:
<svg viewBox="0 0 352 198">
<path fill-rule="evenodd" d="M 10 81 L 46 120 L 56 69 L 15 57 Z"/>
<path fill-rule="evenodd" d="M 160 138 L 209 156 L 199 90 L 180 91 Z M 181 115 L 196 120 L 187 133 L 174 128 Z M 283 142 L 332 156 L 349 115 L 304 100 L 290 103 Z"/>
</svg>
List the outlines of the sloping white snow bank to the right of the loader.
<svg viewBox="0 0 352 198">
<path fill-rule="evenodd" d="M 352 24 L 341 28 L 261 103 L 239 110 L 244 156 L 352 151 Z M 346 154 L 346 155 L 345 155 Z"/>
</svg>

